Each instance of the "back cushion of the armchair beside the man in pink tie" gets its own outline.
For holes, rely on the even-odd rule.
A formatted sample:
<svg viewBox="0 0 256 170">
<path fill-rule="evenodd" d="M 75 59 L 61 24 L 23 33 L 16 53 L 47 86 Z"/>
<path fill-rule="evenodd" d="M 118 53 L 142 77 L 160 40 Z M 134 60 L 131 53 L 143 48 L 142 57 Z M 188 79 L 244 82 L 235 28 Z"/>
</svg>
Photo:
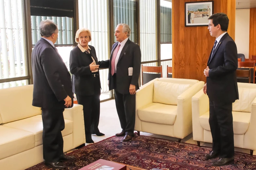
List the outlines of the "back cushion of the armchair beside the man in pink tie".
<svg viewBox="0 0 256 170">
<path fill-rule="evenodd" d="M 188 90 L 191 86 L 192 85 L 190 84 L 155 81 L 153 102 L 167 105 L 177 105 L 177 97 Z"/>
</svg>

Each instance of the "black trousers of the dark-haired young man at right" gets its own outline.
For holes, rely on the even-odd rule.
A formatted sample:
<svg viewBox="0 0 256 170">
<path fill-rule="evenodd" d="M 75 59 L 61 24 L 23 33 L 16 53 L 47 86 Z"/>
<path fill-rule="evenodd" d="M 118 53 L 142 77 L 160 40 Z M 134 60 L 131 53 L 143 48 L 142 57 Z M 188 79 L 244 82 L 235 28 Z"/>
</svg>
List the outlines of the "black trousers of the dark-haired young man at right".
<svg viewBox="0 0 256 170">
<path fill-rule="evenodd" d="M 209 103 L 213 150 L 219 152 L 222 158 L 230 158 L 234 156 L 232 103 Z"/>
</svg>

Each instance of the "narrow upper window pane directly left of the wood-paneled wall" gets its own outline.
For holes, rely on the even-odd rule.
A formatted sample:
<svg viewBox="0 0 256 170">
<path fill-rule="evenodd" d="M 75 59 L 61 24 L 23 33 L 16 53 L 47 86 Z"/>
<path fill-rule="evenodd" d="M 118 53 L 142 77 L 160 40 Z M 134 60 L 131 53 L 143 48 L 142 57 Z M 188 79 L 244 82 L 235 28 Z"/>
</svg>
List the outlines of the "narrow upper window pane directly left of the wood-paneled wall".
<svg viewBox="0 0 256 170">
<path fill-rule="evenodd" d="M 160 24 L 161 43 L 172 42 L 172 3 L 169 1 L 160 1 Z"/>
</svg>

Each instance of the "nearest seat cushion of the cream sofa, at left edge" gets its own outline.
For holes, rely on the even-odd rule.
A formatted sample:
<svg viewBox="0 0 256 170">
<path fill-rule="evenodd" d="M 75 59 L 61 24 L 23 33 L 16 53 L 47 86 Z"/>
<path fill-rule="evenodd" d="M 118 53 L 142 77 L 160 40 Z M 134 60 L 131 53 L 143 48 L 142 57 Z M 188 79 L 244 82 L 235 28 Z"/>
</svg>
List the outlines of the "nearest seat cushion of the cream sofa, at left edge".
<svg viewBox="0 0 256 170">
<path fill-rule="evenodd" d="M 34 147 L 34 134 L 0 125 L 0 160 Z"/>
</svg>

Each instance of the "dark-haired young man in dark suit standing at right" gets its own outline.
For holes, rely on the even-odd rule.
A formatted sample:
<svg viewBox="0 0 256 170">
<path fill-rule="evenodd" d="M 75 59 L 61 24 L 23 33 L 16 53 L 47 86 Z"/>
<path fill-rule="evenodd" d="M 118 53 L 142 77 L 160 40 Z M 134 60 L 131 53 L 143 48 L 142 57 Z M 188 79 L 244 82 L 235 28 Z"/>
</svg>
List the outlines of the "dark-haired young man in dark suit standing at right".
<svg viewBox="0 0 256 170">
<path fill-rule="evenodd" d="M 236 80 L 237 48 L 227 33 L 228 16 L 213 14 L 209 18 L 211 36 L 216 37 L 207 68 L 204 70 L 206 84 L 203 92 L 210 102 L 209 124 L 213 137 L 213 150 L 207 159 L 220 156 L 213 165 L 221 166 L 234 162 L 234 132 L 232 103 L 239 99 Z"/>
</svg>

